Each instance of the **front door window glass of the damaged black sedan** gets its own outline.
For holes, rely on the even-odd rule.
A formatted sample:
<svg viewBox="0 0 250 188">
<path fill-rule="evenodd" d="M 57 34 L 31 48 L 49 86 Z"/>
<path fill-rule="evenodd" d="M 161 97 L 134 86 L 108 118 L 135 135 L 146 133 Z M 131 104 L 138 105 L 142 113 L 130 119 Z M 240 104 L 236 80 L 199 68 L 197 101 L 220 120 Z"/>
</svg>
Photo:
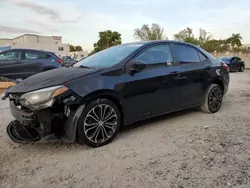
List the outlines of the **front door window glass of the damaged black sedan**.
<svg viewBox="0 0 250 188">
<path fill-rule="evenodd" d="M 173 57 L 169 45 L 157 45 L 146 49 L 135 60 L 143 61 L 150 66 L 171 66 Z"/>
</svg>

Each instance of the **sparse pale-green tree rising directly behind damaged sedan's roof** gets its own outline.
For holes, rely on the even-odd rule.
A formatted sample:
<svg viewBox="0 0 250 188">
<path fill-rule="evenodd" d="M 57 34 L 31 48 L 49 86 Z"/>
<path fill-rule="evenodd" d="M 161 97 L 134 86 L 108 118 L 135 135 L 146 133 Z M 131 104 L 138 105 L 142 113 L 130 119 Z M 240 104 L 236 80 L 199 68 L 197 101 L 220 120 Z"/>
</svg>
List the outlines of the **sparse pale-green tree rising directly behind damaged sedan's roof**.
<svg viewBox="0 0 250 188">
<path fill-rule="evenodd" d="M 168 39 L 164 35 L 164 28 L 156 23 L 153 23 L 151 27 L 149 27 L 148 24 L 144 24 L 140 29 L 139 28 L 135 29 L 134 38 L 143 41 Z"/>
</svg>

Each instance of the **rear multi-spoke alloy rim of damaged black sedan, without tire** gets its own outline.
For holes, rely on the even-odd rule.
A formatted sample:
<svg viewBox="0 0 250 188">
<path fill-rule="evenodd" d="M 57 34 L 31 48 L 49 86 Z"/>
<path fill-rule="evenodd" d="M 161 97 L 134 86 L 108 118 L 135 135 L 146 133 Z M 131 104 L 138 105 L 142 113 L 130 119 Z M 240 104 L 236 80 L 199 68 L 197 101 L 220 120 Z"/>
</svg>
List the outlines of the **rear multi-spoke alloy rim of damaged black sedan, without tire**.
<svg viewBox="0 0 250 188">
<path fill-rule="evenodd" d="M 221 88 L 212 88 L 208 96 L 208 106 L 212 112 L 217 112 L 220 109 L 222 98 L 223 94 Z"/>
</svg>

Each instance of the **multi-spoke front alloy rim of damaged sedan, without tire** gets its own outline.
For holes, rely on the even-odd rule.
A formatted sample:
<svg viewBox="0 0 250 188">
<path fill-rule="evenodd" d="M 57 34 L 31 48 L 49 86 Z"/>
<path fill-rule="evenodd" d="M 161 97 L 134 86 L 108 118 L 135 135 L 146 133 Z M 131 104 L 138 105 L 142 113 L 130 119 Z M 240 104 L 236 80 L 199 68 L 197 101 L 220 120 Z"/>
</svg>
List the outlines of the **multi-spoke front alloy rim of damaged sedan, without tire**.
<svg viewBox="0 0 250 188">
<path fill-rule="evenodd" d="M 91 142 L 103 143 L 115 133 L 117 124 L 117 113 L 110 105 L 97 105 L 84 119 L 84 133 Z"/>
</svg>

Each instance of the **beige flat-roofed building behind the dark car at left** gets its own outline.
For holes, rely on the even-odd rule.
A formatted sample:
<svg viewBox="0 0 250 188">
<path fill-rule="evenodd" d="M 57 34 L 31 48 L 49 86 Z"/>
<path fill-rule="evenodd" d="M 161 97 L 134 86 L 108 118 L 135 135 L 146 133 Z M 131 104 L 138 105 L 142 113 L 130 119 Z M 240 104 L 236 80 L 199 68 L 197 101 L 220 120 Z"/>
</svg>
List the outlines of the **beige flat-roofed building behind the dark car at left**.
<svg viewBox="0 0 250 188">
<path fill-rule="evenodd" d="M 41 36 L 24 34 L 14 39 L 0 38 L 0 47 L 22 48 L 51 51 L 58 56 L 69 55 L 69 44 L 62 43 L 60 36 Z"/>
</svg>

